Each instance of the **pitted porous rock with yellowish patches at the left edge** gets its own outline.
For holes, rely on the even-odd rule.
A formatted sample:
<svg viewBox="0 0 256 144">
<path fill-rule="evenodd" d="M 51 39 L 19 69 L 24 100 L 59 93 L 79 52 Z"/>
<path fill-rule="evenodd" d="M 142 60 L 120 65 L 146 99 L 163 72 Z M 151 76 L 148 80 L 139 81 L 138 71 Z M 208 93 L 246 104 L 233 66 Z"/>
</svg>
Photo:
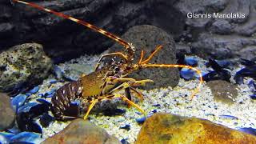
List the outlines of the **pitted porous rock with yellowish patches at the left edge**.
<svg viewBox="0 0 256 144">
<path fill-rule="evenodd" d="M 46 78 L 52 68 L 42 45 L 26 43 L 13 46 L 0 54 L 0 91 L 33 86 Z"/>
</svg>

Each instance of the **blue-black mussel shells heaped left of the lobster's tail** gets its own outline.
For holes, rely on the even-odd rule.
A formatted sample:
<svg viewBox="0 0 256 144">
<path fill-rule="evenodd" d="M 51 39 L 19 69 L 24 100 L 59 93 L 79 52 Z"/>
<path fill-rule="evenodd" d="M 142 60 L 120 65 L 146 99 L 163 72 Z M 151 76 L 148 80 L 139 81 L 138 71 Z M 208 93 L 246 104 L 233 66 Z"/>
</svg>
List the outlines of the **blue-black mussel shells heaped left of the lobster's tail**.
<svg viewBox="0 0 256 144">
<path fill-rule="evenodd" d="M 50 79 L 49 87 L 55 82 L 57 80 Z M 26 94 L 18 94 L 11 99 L 11 106 L 16 113 L 15 123 L 12 128 L 0 132 L 1 143 L 40 143 L 43 141 L 42 128 L 54 122 L 54 117 L 49 112 L 50 98 L 54 96 L 56 88 L 45 93 L 38 93 L 39 89 L 39 86 L 35 86 Z M 35 94 L 38 94 L 36 99 L 33 98 Z"/>
</svg>

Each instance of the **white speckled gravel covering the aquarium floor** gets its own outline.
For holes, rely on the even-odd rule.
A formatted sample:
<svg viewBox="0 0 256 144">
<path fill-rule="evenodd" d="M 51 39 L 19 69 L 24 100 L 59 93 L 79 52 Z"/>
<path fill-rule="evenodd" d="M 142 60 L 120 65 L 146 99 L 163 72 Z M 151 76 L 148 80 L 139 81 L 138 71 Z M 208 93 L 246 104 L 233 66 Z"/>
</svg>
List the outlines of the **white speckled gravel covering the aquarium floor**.
<svg viewBox="0 0 256 144">
<path fill-rule="evenodd" d="M 206 61 L 199 58 L 198 68 L 200 70 L 206 70 L 206 66 L 203 64 L 204 62 Z M 234 75 L 234 72 L 238 69 L 234 69 L 232 74 Z M 178 86 L 174 88 L 166 87 L 154 90 L 140 90 L 144 94 L 144 101 L 138 102 L 138 105 L 143 110 L 146 110 L 148 114 L 152 114 L 153 110 L 157 110 L 157 112 L 204 118 L 234 129 L 240 127 L 256 128 L 254 125 L 256 123 L 256 102 L 250 99 L 249 95 L 251 92 L 246 84 L 238 85 L 238 97 L 231 106 L 221 102 L 214 102 L 214 97 L 211 94 L 210 88 L 206 86 L 206 83 L 203 83 L 200 92 L 196 94 L 193 100 L 190 100 L 191 90 L 197 85 L 198 80 L 185 81 L 181 78 Z M 157 104 L 160 106 L 154 106 Z M 109 134 L 113 134 L 120 140 L 126 139 L 127 142 L 134 143 L 141 128 L 141 125 L 136 122 L 136 118 L 142 118 L 143 115 L 134 107 L 127 108 L 126 105 L 120 105 L 118 108 L 125 109 L 126 113 L 118 116 L 90 114 L 90 122 L 102 127 Z M 238 119 L 219 117 L 222 114 L 231 115 Z M 68 123 L 53 122 L 49 127 L 43 129 L 43 138 L 48 138 L 56 134 L 58 131 L 64 129 Z M 126 124 L 130 125 L 130 130 L 120 129 L 120 126 L 125 126 Z"/>
</svg>

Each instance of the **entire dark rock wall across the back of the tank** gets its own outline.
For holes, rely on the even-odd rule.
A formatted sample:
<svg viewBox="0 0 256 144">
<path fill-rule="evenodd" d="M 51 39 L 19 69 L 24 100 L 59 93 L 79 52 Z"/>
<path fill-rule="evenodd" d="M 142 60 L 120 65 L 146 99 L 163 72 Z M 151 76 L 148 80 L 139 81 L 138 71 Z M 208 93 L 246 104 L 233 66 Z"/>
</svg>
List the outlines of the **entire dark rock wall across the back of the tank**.
<svg viewBox="0 0 256 144">
<path fill-rule="evenodd" d="M 256 31 L 255 0 L 74 0 L 72 2 L 31 0 L 30 2 L 37 2 L 47 8 L 70 14 L 118 35 L 124 34 L 132 26 L 145 24 L 158 26 L 168 34 L 173 34 L 175 42 L 190 47 L 192 47 L 191 43 L 203 41 L 198 39 L 202 33 L 207 34 L 207 37 L 218 37 L 223 34 L 230 37 L 253 37 Z M 114 41 L 84 26 L 78 26 L 77 23 L 39 12 L 22 4 L 11 5 L 10 1 L 2 1 L 0 7 L 1 49 L 18 43 L 40 42 L 45 46 L 46 53 L 60 62 L 85 53 L 101 53 L 114 44 Z M 246 18 L 187 18 L 188 12 L 242 13 Z M 217 35 L 213 36 L 212 33 Z M 230 40 L 224 39 L 224 41 Z M 238 38 L 238 41 L 242 41 L 242 37 Z M 191 53 L 198 54 L 198 51 L 204 47 L 214 44 L 193 46 Z M 245 48 L 246 46 L 239 48 L 233 46 L 231 49 L 222 47 L 222 50 L 213 48 L 202 56 L 214 56 L 213 51 L 218 55 L 223 51 L 231 50 L 234 55 L 230 57 L 229 53 L 223 53 L 224 56 L 221 58 L 238 58 L 240 55 L 236 53 Z"/>
</svg>

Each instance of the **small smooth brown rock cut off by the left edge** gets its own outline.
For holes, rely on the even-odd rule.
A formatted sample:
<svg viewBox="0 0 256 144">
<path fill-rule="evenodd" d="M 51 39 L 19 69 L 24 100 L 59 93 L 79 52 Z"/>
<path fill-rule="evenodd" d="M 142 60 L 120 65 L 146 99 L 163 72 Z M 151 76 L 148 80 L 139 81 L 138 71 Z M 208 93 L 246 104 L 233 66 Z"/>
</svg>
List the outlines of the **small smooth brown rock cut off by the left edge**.
<svg viewBox="0 0 256 144">
<path fill-rule="evenodd" d="M 0 93 L 0 130 L 10 128 L 14 124 L 15 112 L 10 105 L 10 97 Z"/>
</svg>

